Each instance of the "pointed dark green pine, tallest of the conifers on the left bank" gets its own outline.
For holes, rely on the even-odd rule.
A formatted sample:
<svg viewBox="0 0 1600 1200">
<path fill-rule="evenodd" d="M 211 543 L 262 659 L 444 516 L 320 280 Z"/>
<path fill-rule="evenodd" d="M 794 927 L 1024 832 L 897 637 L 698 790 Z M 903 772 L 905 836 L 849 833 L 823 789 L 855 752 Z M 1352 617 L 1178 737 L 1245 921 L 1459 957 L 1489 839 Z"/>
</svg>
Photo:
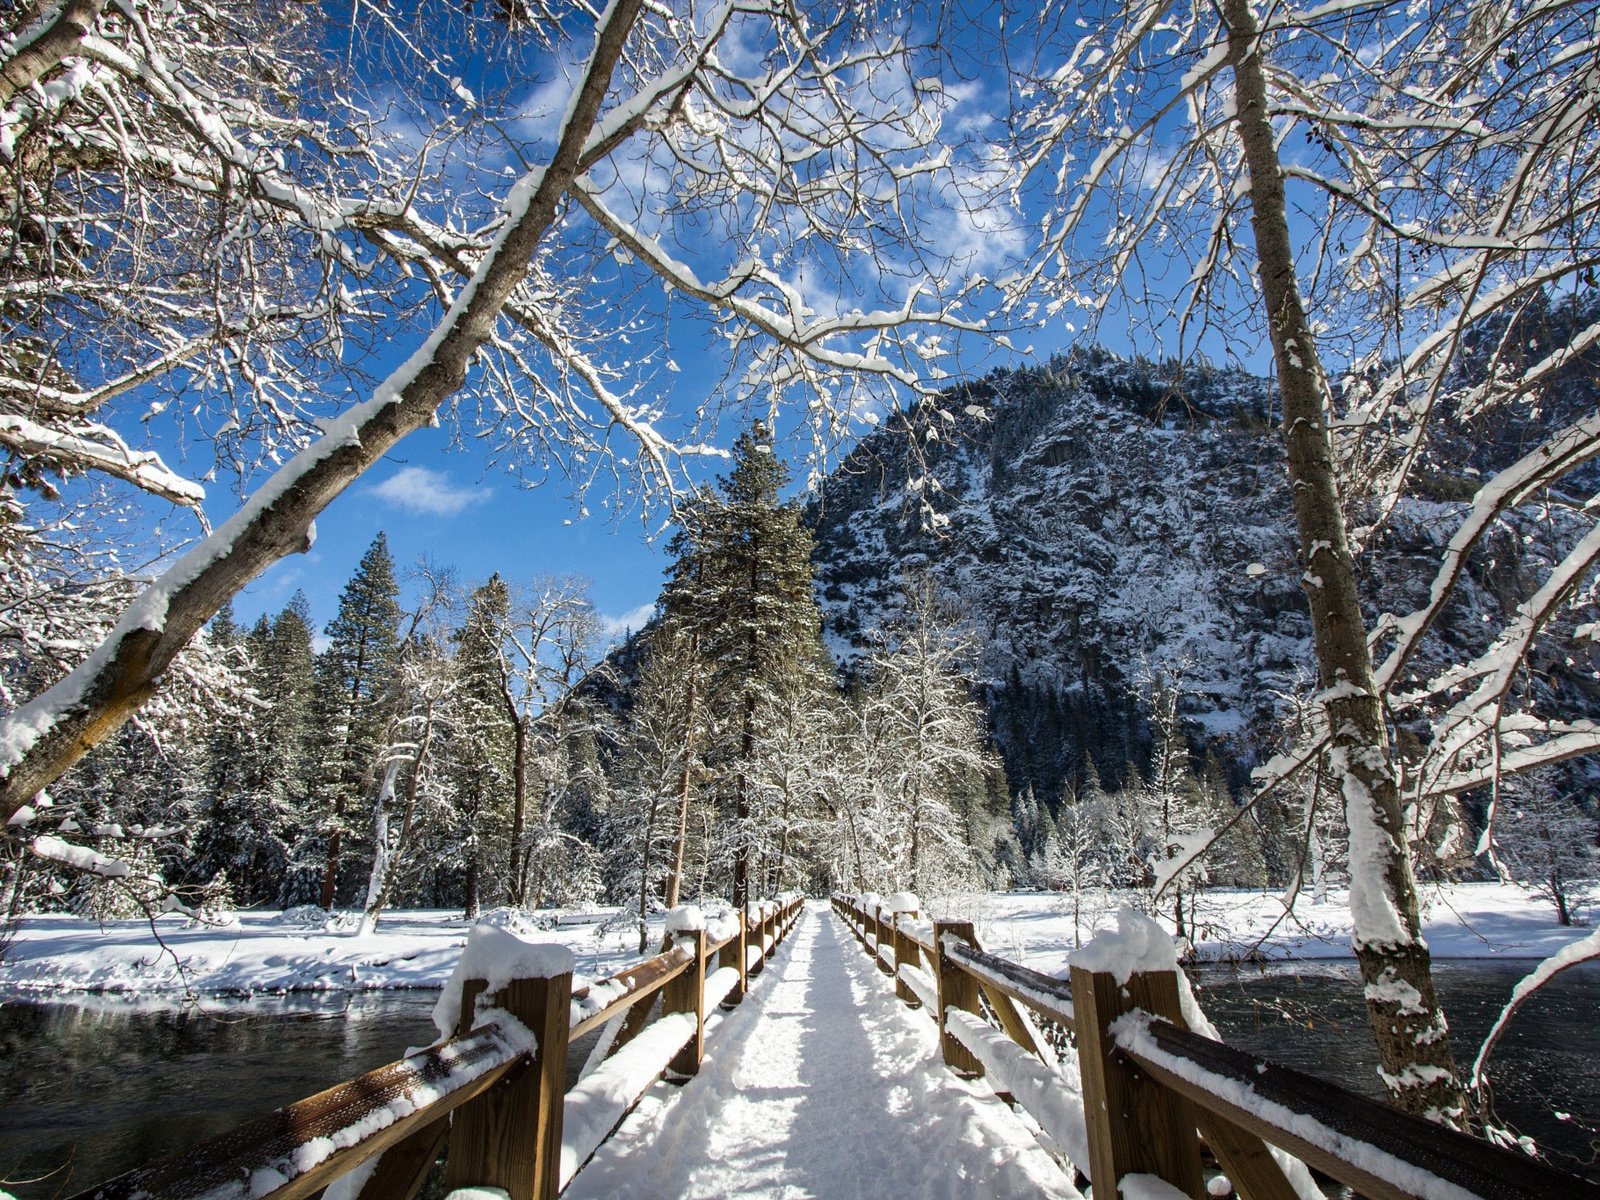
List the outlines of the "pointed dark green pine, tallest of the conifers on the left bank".
<svg viewBox="0 0 1600 1200">
<path fill-rule="evenodd" d="M 389 539 L 379 533 L 339 595 L 339 611 L 325 630 L 328 648 L 317 656 L 315 726 L 326 739 L 317 779 L 325 818 L 325 909 L 341 894 L 349 813 L 374 782 L 384 704 L 400 651 L 398 595 Z"/>
</svg>

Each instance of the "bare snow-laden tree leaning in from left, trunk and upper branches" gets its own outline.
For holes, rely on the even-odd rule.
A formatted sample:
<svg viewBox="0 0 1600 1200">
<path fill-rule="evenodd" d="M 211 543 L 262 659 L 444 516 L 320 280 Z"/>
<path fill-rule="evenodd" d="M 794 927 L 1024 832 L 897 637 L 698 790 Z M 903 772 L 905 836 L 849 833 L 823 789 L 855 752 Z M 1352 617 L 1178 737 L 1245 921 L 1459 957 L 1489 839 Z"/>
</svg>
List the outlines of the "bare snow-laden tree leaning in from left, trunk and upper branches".
<svg viewBox="0 0 1600 1200">
<path fill-rule="evenodd" d="M 387 10 L 374 13 L 398 30 Z M 0 814 L 126 720 L 229 595 L 304 549 L 312 518 L 464 386 L 488 427 L 579 483 L 610 472 L 669 490 L 723 397 L 803 398 L 834 435 L 872 381 L 931 389 L 923 366 L 947 350 L 934 333 L 976 328 L 965 306 L 982 280 L 966 274 L 971 251 L 942 248 L 939 230 L 918 232 L 914 219 L 966 211 L 971 187 L 936 146 L 947 98 L 920 82 L 904 37 L 880 32 L 894 24 L 886 18 L 867 5 L 813 14 L 765 2 L 618 0 L 592 21 L 581 8 L 531 13 L 491 53 L 510 54 L 528 37 L 546 70 L 552 50 L 579 66 L 570 90 L 557 90 L 557 120 L 514 138 L 494 163 L 515 178 L 509 187 L 490 190 L 494 174 L 478 178 L 483 190 L 461 187 L 418 168 L 416 186 L 387 189 L 402 178 L 389 168 L 379 186 L 317 192 L 266 155 L 270 170 L 250 176 L 262 205 L 298 214 L 341 261 L 352 246 L 376 248 L 442 315 L 368 398 L 323 418 L 315 442 L 146 590 L 85 662 L 5 718 Z M 587 29 L 571 35 L 578 27 Z M 144 53 L 158 77 L 160 43 Z M 54 69 L 70 70 L 70 59 Z M 438 62 L 422 77 L 466 91 Z M 474 106 L 461 99 L 453 118 L 475 120 Z M 486 192 L 488 203 L 430 213 L 435 192 Z M 789 275 L 802 250 L 832 277 L 821 266 L 808 267 L 811 285 Z M 730 373 L 717 398 L 674 414 L 690 432 L 672 440 L 653 374 L 670 365 L 635 362 L 627 346 L 640 322 L 682 306 L 704 315 Z"/>
</svg>

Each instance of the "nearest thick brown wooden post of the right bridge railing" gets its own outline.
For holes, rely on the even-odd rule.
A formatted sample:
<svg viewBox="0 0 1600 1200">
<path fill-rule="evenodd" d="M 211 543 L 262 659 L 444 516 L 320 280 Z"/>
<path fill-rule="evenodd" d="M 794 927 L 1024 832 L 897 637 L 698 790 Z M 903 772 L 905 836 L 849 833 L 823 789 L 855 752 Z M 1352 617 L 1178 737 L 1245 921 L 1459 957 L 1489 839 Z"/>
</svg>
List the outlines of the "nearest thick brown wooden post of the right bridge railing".
<svg viewBox="0 0 1600 1200">
<path fill-rule="evenodd" d="M 1182 1024 L 1178 976 L 1144 971 L 1120 984 L 1115 974 L 1072 968 L 1090 1181 L 1096 1194 L 1104 1187 L 1106 1195 L 1117 1195 L 1117 1182 L 1125 1174 L 1154 1174 L 1186 1195 L 1203 1197 L 1195 1114 L 1181 1096 L 1123 1058 L 1112 1038 L 1110 1022 L 1134 1008 Z"/>
</svg>

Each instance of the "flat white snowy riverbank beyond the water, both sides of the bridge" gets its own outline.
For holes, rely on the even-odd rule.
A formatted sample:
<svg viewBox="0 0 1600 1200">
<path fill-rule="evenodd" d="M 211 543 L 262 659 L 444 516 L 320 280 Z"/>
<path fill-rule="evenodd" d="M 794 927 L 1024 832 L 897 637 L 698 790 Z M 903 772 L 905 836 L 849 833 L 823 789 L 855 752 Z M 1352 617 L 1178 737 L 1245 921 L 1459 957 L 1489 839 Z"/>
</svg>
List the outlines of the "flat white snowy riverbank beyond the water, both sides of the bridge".
<svg viewBox="0 0 1600 1200">
<path fill-rule="evenodd" d="M 1430 888 L 1427 941 L 1440 958 L 1544 958 L 1589 933 L 1563 930 L 1549 904 L 1515 886 L 1459 883 Z M 936 915 L 978 922 L 982 944 L 1045 971 L 1093 930 L 1112 928 L 1125 898 L 1086 894 L 1074 925 L 1072 898 L 1062 893 L 986 893 L 933 901 Z M 603 976 L 637 960 L 638 936 L 610 914 L 563 914 L 560 925 L 534 936 L 568 946 L 578 971 Z M 355 922 L 304 923 L 306 912 L 243 912 L 206 926 L 182 917 L 155 922 L 91 922 L 77 917 L 24 917 L 0 962 L 0 997 L 107 992 L 178 1002 L 200 995 L 283 990 L 370 990 L 438 987 L 466 944 L 459 912 L 395 912 L 378 933 L 358 936 Z M 552 914 L 539 914 L 550 923 Z M 512 920 L 504 912 L 499 920 Z M 1170 914 L 1163 917 L 1171 928 Z M 1301 896 L 1285 915 L 1282 898 L 1262 891 L 1211 891 L 1200 899 L 1200 957 L 1261 954 L 1278 958 L 1339 958 L 1350 954 L 1347 898 Z M 659 944 L 653 931 L 651 944 Z"/>
</svg>

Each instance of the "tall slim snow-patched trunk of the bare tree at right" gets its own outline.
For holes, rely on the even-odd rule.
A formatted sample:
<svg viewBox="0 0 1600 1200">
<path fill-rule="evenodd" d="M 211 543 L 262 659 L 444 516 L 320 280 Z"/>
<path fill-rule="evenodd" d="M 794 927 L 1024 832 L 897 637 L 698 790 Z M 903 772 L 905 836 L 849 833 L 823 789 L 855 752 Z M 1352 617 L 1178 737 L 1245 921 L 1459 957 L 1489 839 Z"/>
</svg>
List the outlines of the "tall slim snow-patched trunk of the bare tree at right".
<svg viewBox="0 0 1600 1200">
<path fill-rule="evenodd" d="M 1464 1094 L 1422 941 L 1394 752 L 1339 506 L 1328 434 L 1333 397 L 1294 274 L 1259 30 L 1248 0 L 1222 0 L 1222 19 L 1237 88 L 1238 136 L 1250 170 L 1256 264 L 1283 397 L 1283 435 L 1328 712 L 1330 760 L 1342 786 L 1350 829 L 1352 942 L 1366 984 L 1366 1014 L 1394 1099 L 1411 1112 L 1453 1122 L 1464 1112 Z"/>
</svg>

